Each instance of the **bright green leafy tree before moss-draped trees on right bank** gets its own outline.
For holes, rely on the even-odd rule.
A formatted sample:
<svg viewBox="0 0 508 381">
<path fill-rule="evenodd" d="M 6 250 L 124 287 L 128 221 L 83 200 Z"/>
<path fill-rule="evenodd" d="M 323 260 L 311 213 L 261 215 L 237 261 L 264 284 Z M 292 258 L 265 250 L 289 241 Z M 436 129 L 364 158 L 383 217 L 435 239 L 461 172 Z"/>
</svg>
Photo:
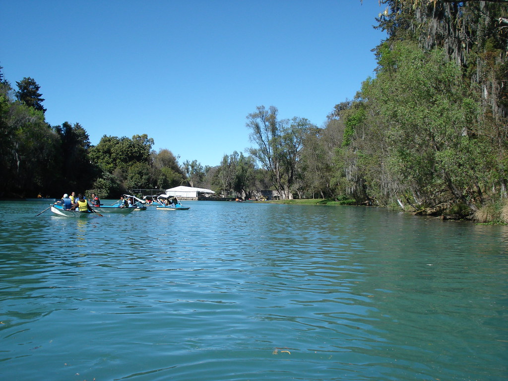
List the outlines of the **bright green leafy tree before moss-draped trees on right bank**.
<svg viewBox="0 0 508 381">
<path fill-rule="evenodd" d="M 399 182 L 395 189 L 418 190 L 421 202 L 436 191 L 458 197 L 488 167 L 488 144 L 469 134 L 478 124 L 479 100 L 441 49 L 426 53 L 397 43 L 391 56 L 397 70 L 380 68 L 362 91 L 377 112 L 370 122 L 384 125 L 382 167 Z M 390 192 L 387 185 L 379 183 L 377 192 Z"/>
</svg>

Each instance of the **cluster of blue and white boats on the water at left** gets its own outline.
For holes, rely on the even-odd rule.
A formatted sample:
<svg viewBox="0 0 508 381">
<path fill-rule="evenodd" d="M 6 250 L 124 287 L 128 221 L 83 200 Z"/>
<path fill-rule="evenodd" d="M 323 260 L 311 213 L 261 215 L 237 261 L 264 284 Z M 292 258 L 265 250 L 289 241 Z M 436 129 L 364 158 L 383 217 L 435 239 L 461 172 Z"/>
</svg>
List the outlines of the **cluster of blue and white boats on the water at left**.
<svg viewBox="0 0 508 381">
<path fill-rule="evenodd" d="M 100 204 L 99 206 L 90 205 L 90 210 L 79 211 L 69 210 L 63 208 L 58 202 L 52 204 L 49 208 L 43 210 L 41 213 L 48 209 L 59 216 L 63 217 L 75 217 L 75 218 L 86 218 L 93 214 L 103 216 L 104 214 L 129 214 L 135 210 L 147 210 L 149 207 L 155 207 L 157 210 L 189 210 L 189 207 L 184 207 L 180 201 L 174 196 L 160 195 L 160 196 L 145 196 L 140 199 L 132 195 L 122 195 L 122 199 L 118 200 L 115 204 L 107 206 Z M 126 204 L 126 205 L 125 205 Z M 39 213 L 39 214 L 41 214 Z M 37 215 L 39 215 L 37 214 Z"/>
</svg>

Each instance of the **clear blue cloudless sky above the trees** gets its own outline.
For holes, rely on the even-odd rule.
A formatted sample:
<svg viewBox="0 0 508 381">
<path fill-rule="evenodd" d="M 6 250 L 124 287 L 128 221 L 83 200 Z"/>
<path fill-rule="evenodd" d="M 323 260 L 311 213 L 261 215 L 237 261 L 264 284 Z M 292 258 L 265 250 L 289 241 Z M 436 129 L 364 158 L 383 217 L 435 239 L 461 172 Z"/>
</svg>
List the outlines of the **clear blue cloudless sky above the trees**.
<svg viewBox="0 0 508 381">
<path fill-rule="evenodd" d="M 41 86 L 51 125 L 148 134 L 215 166 L 251 146 L 246 116 L 322 126 L 373 75 L 377 0 L 5 1 L 0 66 Z"/>
</svg>

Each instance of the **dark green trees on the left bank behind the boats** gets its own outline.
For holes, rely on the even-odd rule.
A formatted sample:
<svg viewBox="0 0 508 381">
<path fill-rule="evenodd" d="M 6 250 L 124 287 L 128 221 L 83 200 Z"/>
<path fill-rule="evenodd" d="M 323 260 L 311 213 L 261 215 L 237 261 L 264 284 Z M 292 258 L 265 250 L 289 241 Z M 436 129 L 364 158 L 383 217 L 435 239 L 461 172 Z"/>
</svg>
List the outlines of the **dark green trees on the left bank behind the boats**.
<svg viewBox="0 0 508 381">
<path fill-rule="evenodd" d="M 45 121 L 44 99 L 33 78 L 16 85 L 14 90 L 0 67 L 0 197 L 58 197 L 72 189 L 116 198 L 133 187 L 185 181 L 177 158 L 167 149 L 154 152 L 147 135 L 105 135 L 92 146 L 79 123 Z"/>
</svg>

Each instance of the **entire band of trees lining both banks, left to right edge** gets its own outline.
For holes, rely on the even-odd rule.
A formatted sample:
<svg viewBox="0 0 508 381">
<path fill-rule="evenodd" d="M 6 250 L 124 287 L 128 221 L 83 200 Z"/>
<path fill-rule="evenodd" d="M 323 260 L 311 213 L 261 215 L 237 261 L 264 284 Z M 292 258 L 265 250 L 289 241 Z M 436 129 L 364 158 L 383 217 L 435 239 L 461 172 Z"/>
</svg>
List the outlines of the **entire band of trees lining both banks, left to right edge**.
<svg viewBox="0 0 508 381">
<path fill-rule="evenodd" d="M 15 90 L 0 67 L 0 197 L 184 184 L 508 222 L 508 2 L 380 3 L 388 38 L 353 100 L 337 100 L 322 127 L 258 106 L 247 115 L 252 148 L 214 167 L 179 164 L 147 135 L 92 146 L 79 123 L 46 123 L 34 79 Z"/>
</svg>

